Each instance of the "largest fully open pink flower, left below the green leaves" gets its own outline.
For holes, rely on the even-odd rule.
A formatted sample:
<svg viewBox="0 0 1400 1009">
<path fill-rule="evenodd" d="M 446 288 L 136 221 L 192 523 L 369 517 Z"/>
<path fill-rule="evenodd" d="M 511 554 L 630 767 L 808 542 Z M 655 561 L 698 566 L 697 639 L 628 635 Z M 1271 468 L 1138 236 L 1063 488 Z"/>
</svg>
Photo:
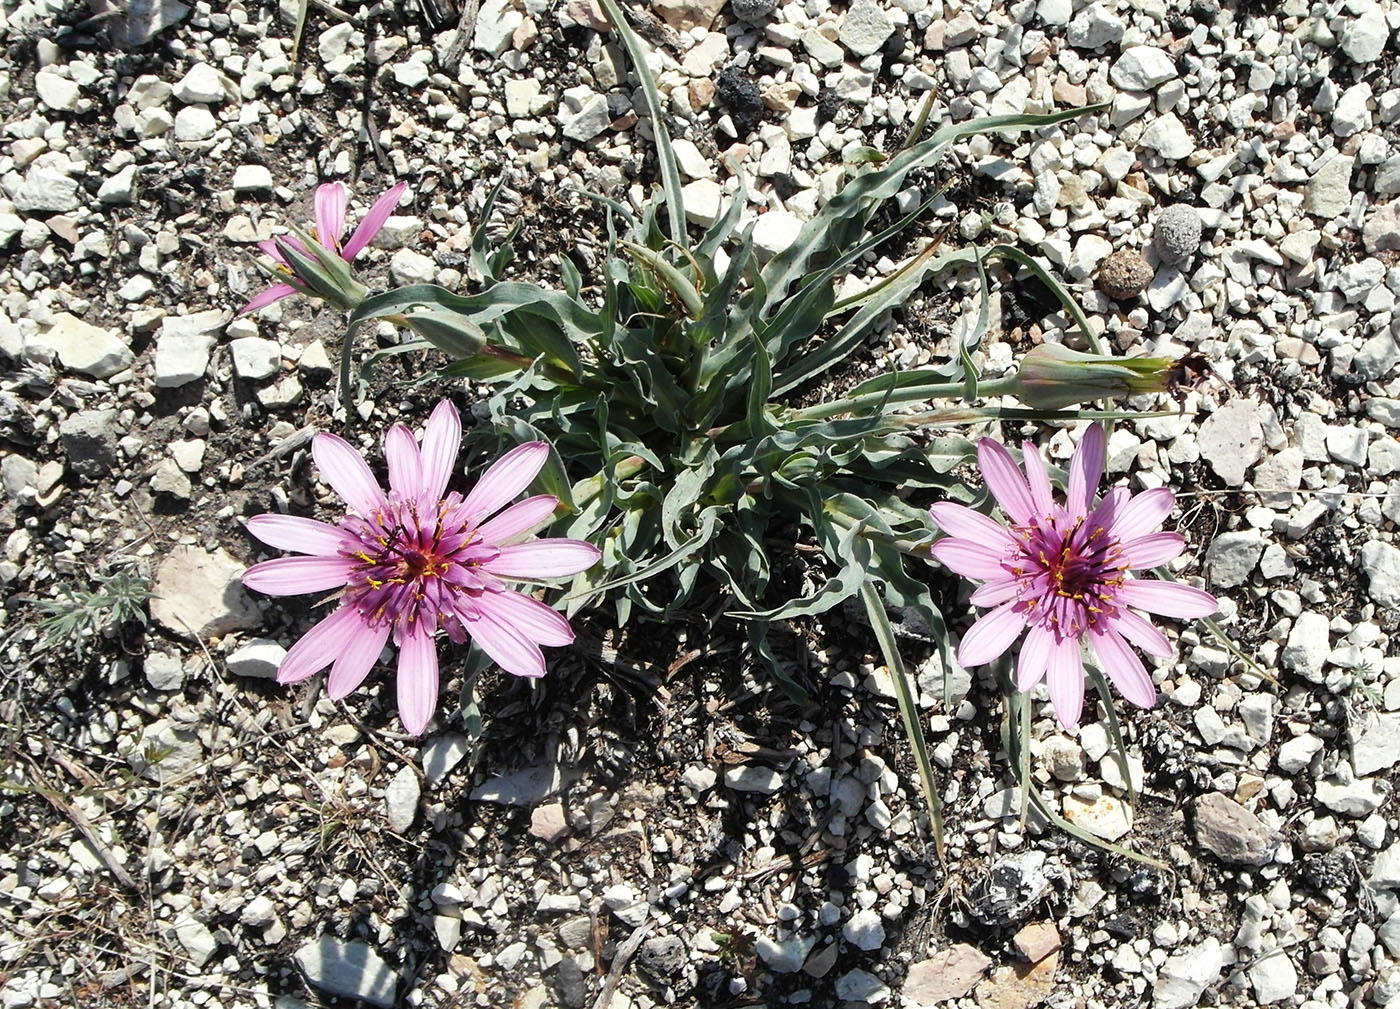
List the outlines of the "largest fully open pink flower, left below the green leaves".
<svg viewBox="0 0 1400 1009">
<path fill-rule="evenodd" d="M 417 735 L 437 705 L 438 628 L 458 644 L 472 638 L 517 676 L 543 676 L 540 645 L 574 640 L 563 616 L 503 581 L 573 575 L 598 561 L 598 550 L 582 540 L 529 540 L 553 516 L 554 497 L 510 504 L 535 480 L 549 445 L 519 445 L 465 498 L 456 491 L 444 497 L 461 439 L 462 421 L 447 400 L 428 418 L 421 449 L 409 428 L 391 427 L 384 437 L 385 494 L 347 441 L 318 434 L 311 455 L 350 514 L 339 525 L 294 515 L 248 521 L 248 530 L 267 546 L 307 556 L 255 564 L 244 572 L 244 585 L 273 596 L 343 589 L 340 607 L 287 652 L 279 683 L 304 680 L 329 665 L 330 697 L 340 700 L 360 686 L 392 635 L 399 647 L 399 718 Z"/>
</svg>

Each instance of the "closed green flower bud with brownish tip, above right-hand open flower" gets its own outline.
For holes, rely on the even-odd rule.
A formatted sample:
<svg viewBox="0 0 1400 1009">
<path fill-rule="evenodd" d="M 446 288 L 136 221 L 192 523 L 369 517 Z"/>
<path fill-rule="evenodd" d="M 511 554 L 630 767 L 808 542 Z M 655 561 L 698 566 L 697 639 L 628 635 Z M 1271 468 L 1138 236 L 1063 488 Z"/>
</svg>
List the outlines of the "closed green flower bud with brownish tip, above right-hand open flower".
<svg viewBox="0 0 1400 1009">
<path fill-rule="evenodd" d="M 1168 392 L 1180 369 L 1165 357 L 1106 357 L 1043 343 L 1021 358 L 1015 395 L 1036 410 L 1060 410 L 1096 399 Z"/>
</svg>

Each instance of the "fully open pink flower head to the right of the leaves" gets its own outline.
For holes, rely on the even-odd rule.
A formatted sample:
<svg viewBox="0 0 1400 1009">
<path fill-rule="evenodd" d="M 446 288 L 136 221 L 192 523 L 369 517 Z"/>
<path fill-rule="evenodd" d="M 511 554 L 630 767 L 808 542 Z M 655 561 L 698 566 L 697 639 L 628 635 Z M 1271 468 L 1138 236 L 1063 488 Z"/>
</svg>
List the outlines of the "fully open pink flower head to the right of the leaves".
<svg viewBox="0 0 1400 1009">
<path fill-rule="evenodd" d="M 1025 633 L 1016 687 L 1029 690 L 1046 679 L 1056 717 L 1074 726 L 1084 708 L 1081 642 L 1088 640 L 1119 691 L 1149 708 L 1156 687 L 1128 645 L 1159 658 L 1172 655 L 1172 645 L 1137 610 L 1177 619 L 1215 612 L 1208 592 L 1130 574 L 1166 564 L 1186 547 L 1177 533 L 1161 532 L 1176 498 L 1165 487 L 1135 497 L 1113 487 L 1095 502 L 1105 463 L 1105 434 L 1098 424 L 1070 462 L 1063 505 L 1054 501 L 1035 445 L 1023 448 L 1025 474 L 997 442 L 983 438 L 977 445 L 983 477 L 1011 519 L 1009 528 L 951 501 L 930 508 L 948 533 L 932 546 L 934 557 L 984 582 L 972 595 L 974 605 L 995 606 L 963 635 L 958 661 L 965 666 L 991 662 Z"/>
</svg>

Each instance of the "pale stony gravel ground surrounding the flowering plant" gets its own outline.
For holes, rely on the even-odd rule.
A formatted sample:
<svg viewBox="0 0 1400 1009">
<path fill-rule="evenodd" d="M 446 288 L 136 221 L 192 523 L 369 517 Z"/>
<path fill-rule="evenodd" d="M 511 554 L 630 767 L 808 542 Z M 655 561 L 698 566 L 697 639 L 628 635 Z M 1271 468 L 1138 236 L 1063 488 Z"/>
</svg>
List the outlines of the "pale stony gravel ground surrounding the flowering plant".
<svg viewBox="0 0 1400 1009">
<path fill-rule="evenodd" d="M 316 610 L 244 593 L 242 519 L 335 514 L 307 442 L 342 329 L 300 301 L 235 319 L 253 242 L 319 182 L 363 210 L 402 179 L 367 274 L 469 285 L 504 172 L 489 227 L 521 225 L 519 274 L 588 276 L 580 190 L 655 175 L 589 0 L 484 0 L 461 43 L 462 11 L 421 3 L 312 6 L 300 53 L 295 4 L 3 6 L 0 1006 L 1400 1006 L 1400 7 L 637 10 L 692 220 L 742 174 L 770 253 L 925 97 L 932 123 L 1109 104 L 962 143 L 900 199 L 946 185 L 921 234 L 1018 244 L 1119 350 L 1208 362 L 1179 416 L 1119 425 L 1110 476 L 1177 488 L 1180 574 L 1271 679 L 1176 628 L 1163 700 L 1121 711 L 1135 805 L 1102 721 L 1033 724 L 1046 796 L 1159 872 L 1022 823 L 994 684 L 949 670 L 945 703 L 910 634 L 941 865 L 840 612 L 778 642 L 805 704 L 755 679 L 724 600 L 659 635 L 585 617 L 543 682 L 483 679 L 475 746 L 447 703 L 403 736 L 388 676 L 346 704 L 270 679 Z M 965 281 L 858 367 L 938 360 Z M 1005 294 L 990 375 L 1067 327 Z M 444 392 L 472 410 L 412 371 L 363 411 L 371 458 Z M 966 588 L 928 577 L 966 627 Z"/>
</svg>

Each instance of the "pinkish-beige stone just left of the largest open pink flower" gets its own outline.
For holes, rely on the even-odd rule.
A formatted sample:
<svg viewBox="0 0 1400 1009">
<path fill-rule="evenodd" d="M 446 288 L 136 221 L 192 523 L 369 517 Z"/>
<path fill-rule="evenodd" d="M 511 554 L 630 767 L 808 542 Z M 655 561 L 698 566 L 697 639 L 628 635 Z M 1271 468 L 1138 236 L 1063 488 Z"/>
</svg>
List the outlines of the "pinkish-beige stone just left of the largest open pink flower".
<svg viewBox="0 0 1400 1009">
<path fill-rule="evenodd" d="M 155 570 L 151 617 L 174 634 L 196 638 L 258 627 L 262 616 L 242 574 L 244 565 L 227 550 L 176 546 Z"/>
</svg>

